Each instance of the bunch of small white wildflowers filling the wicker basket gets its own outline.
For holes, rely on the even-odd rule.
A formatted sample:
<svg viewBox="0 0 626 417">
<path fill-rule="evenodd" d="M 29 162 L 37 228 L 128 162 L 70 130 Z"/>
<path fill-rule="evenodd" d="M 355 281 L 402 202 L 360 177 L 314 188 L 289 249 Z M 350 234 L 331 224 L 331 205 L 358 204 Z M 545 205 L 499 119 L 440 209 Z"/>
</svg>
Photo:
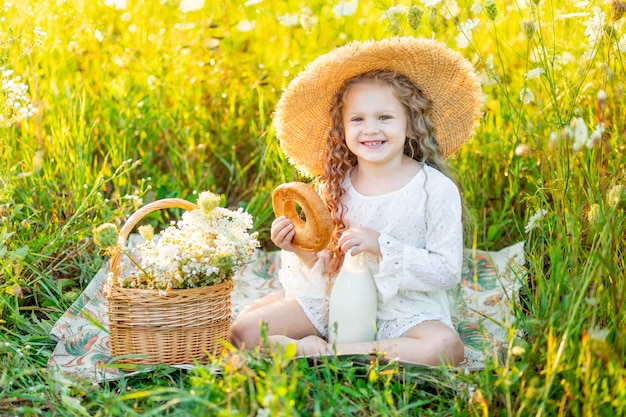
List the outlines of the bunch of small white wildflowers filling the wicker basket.
<svg viewBox="0 0 626 417">
<path fill-rule="evenodd" d="M 152 226 L 140 226 L 145 238 L 136 249 L 138 259 L 130 254 L 134 273 L 110 273 L 109 285 L 124 288 L 154 289 L 166 295 L 169 289 L 199 288 L 233 278 L 259 246 L 257 233 L 249 233 L 253 219 L 239 208 L 219 207 L 220 197 L 205 191 L 198 198 L 199 208 L 183 213 L 155 236 Z M 115 230 L 112 229 L 115 228 Z M 117 228 L 104 224 L 94 230 L 96 243 L 105 250 L 119 249 Z M 112 248 L 111 242 L 115 241 Z"/>
</svg>

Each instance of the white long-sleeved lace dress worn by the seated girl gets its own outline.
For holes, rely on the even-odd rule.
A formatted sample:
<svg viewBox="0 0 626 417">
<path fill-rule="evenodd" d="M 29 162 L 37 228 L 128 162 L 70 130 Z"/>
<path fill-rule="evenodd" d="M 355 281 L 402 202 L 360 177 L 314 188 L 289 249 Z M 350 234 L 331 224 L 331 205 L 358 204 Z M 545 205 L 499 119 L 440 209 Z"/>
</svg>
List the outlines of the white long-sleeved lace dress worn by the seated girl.
<svg viewBox="0 0 626 417">
<path fill-rule="evenodd" d="M 382 258 L 368 255 L 378 289 L 379 340 L 399 337 L 426 320 L 454 329 L 446 290 L 461 280 L 463 228 L 456 185 L 423 165 L 399 190 L 378 196 L 360 194 L 346 180 L 346 223 L 380 233 Z M 328 335 L 326 251 L 307 268 L 292 252 L 282 251 L 279 279 L 311 323 Z"/>
</svg>

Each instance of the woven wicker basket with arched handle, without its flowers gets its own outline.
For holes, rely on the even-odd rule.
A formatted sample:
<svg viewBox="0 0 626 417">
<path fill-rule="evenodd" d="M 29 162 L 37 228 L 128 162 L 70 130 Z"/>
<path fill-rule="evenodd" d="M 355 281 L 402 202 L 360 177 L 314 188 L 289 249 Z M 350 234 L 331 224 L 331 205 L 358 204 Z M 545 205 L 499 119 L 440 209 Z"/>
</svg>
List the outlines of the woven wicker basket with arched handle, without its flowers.
<svg viewBox="0 0 626 417">
<path fill-rule="evenodd" d="M 164 208 L 193 210 L 197 205 L 178 198 L 146 204 L 128 218 L 120 231 L 123 247 L 135 225 L 148 213 Z M 111 257 L 113 282 L 120 274 L 118 251 Z M 228 338 L 232 280 L 202 288 L 139 290 L 111 285 L 109 329 L 111 352 L 124 356 L 117 363 L 182 365 L 217 355 Z M 126 356 L 130 355 L 130 356 Z"/>
</svg>

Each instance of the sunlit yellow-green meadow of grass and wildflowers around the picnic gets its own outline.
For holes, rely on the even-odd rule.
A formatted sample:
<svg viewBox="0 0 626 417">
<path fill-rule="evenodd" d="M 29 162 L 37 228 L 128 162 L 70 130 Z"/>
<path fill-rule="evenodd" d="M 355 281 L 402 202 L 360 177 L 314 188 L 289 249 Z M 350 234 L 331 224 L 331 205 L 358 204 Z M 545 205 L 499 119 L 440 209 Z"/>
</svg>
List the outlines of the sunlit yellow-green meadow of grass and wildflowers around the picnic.
<svg viewBox="0 0 626 417">
<path fill-rule="evenodd" d="M 626 414 L 625 11 L 606 0 L 3 2 L 0 415 Z M 251 212 L 271 249 L 271 190 L 300 178 L 272 129 L 281 89 L 320 53 L 393 35 L 445 42 L 481 75 L 484 117 L 451 162 L 475 217 L 470 245 L 526 241 L 504 361 L 417 373 L 229 354 L 196 371 L 55 384 L 48 332 L 106 261 L 93 225 L 209 189 Z"/>
</svg>

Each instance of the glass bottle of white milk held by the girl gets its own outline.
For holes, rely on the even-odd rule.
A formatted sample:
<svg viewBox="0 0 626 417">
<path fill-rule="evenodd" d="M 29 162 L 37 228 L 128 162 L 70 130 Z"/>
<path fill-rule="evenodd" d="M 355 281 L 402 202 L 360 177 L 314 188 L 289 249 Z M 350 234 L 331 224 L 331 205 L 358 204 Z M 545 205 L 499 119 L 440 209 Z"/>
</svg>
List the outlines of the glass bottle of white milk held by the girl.
<svg viewBox="0 0 626 417">
<path fill-rule="evenodd" d="M 369 342 L 376 337 L 378 298 L 364 253 L 346 252 L 328 308 L 330 343 Z"/>
</svg>

